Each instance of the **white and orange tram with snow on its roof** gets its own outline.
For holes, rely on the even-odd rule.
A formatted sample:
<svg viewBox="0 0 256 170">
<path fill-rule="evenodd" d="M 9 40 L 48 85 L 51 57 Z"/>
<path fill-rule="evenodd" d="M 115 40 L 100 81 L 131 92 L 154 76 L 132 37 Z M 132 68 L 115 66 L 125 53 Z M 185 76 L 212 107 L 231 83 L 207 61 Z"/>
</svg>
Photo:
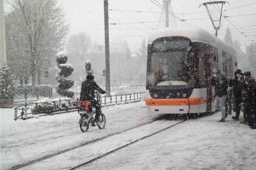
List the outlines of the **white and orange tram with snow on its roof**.
<svg viewBox="0 0 256 170">
<path fill-rule="evenodd" d="M 217 69 L 228 82 L 237 69 L 227 43 L 196 27 L 157 30 L 147 45 L 147 114 L 214 112 Z"/>
</svg>

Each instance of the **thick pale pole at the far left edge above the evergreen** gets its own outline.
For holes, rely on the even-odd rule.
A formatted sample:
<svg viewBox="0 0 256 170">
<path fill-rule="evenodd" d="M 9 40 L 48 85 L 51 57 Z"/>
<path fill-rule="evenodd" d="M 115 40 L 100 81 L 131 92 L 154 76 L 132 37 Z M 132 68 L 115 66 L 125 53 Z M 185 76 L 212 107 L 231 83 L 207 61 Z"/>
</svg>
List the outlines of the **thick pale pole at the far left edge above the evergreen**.
<svg viewBox="0 0 256 170">
<path fill-rule="evenodd" d="M 3 0 L 0 0 L 0 68 L 6 64 L 5 48 L 5 18 L 3 11 Z"/>
</svg>

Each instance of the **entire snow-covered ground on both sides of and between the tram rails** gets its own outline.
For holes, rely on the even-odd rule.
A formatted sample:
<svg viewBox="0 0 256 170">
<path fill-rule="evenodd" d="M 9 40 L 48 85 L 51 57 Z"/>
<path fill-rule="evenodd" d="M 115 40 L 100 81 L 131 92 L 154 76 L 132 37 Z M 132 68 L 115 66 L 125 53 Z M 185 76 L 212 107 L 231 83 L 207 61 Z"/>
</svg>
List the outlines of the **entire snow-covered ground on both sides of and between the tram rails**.
<svg viewBox="0 0 256 170">
<path fill-rule="evenodd" d="M 0 109 L 1 169 L 78 146 L 150 122 L 144 101 L 104 107 L 105 129 L 79 129 L 77 112 L 13 120 L 13 109 Z M 241 114 L 241 119 L 243 120 Z M 80 169 L 255 169 L 256 131 L 220 112 L 188 120 L 98 159 Z M 81 148 L 39 161 L 24 169 L 67 169 L 101 156 L 180 120 L 159 120 Z"/>
</svg>

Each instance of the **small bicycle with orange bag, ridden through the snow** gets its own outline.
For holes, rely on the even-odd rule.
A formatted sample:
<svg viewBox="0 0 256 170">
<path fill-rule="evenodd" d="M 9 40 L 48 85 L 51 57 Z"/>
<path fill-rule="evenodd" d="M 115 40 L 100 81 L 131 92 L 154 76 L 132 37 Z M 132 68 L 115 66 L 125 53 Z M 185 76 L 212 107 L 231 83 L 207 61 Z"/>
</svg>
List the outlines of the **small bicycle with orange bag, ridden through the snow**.
<svg viewBox="0 0 256 170">
<path fill-rule="evenodd" d="M 101 97 L 99 92 L 96 92 L 97 102 L 100 103 L 101 108 Z M 95 127 L 95 118 L 93 115 L 95 114 L 95 109 L 93 110 L 91 105 L 91 101 L 79 101 L 78 102 L 78 114 L 80 114 L 79 125 L 82 132 L 87 132 L 89 127 Z M 99 129 L 104 129 L 106 125 L 106 117 L 100 111 L 99 117 L 100 124 L 98 125 Z"/>
</svg>

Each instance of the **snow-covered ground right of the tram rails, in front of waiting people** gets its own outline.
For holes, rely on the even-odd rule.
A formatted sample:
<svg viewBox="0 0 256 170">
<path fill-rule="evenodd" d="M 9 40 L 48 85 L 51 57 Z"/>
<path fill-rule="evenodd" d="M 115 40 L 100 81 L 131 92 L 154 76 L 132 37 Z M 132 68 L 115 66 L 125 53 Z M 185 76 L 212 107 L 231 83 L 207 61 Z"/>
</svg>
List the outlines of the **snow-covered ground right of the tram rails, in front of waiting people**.
<svg viewBox="0 0 256 170">
<path fill-rule="evenodd" d="M 80 169 L 255 170 L 256 131 L 220 117 L 188 120 Z"/>
</svg>

